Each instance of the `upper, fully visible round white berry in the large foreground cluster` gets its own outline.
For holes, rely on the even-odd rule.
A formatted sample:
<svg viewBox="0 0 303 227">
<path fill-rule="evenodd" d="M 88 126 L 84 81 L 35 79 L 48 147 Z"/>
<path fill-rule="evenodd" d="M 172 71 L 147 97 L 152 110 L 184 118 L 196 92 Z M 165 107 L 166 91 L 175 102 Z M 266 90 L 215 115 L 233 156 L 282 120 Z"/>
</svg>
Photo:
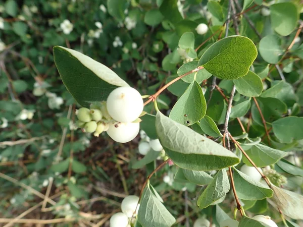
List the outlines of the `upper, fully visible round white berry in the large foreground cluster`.
<svg viewBox="0 0 303 227">
<path fill-rule="evenodd" d="M 107 99 L 107 110 L 117 122 L 133 122 L 143 110 L 143 99 L 136 89 L 119 87 L 110 93 Z"/>
</svg>

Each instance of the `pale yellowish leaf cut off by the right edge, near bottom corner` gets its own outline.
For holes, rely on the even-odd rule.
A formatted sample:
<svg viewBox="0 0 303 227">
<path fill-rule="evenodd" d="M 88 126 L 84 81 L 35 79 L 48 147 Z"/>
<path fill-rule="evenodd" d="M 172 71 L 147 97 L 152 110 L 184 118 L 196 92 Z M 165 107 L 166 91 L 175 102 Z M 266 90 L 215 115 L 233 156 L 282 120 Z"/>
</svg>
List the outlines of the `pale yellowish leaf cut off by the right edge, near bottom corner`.
<svg viewBox="0 0 303 227">
<path fill-rule="evenodd" d="M 272 188 L 274 190 L 273 200 L 281 211 L 293 219 L 302 219 L 303 196 L 275 185 L 272 185 Z"/>
</svg>

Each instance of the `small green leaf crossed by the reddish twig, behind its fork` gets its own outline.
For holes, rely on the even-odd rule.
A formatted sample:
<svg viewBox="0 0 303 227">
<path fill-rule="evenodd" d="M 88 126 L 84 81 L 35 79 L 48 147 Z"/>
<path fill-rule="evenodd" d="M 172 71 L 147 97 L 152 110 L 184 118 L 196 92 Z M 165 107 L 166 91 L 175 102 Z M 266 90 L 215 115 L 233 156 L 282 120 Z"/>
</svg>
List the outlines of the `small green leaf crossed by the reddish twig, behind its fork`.
<svg viewBox="0 0 303 227">
<path fill-rule="evenodd" d="M 181 75 L 197 68 L 197 64 L 198 64 L 198 61 L 192 61 L 192 62 L 185 63 L 178 69 L 177 74 L 179 76 L 181 76 Z M 196 78 L 196 81 L 198 82 L 198 84 L 202 83 L 204 80 L 206 80 L 212 76 L 212 74 L 207 72 L 206 69 L 202 69 L 202 70 L 199 70 L 198 72 L 191 73 L 191 74 L 181 78 L 181 80 L 183 80 L 186 83 L 191 83 L 194 80 L 195 74 L 196 74 L 195 78 Z"/>
</svg>

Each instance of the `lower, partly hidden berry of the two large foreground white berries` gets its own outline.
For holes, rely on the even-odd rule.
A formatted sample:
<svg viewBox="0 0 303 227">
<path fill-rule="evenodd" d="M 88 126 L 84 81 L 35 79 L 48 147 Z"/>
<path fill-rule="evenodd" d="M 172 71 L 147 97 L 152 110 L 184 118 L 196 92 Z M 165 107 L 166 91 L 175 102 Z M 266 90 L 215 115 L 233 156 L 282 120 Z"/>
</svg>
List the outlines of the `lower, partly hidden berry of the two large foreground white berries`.
<svg viewBox="0 0 303 227">
<path fill-rule="evenodd" d="M 138 135 L 139 129 L 140 123 L 114 123 L 106 132 L 116 142 L 127 143 Z"/>
</svg>

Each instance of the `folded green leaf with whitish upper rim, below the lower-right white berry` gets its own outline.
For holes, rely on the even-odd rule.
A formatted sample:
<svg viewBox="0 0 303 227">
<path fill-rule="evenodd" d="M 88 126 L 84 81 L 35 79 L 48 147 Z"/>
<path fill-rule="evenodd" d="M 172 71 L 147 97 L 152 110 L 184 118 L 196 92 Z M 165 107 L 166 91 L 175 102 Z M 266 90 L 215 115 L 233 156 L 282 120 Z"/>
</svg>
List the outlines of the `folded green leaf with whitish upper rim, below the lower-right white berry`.
<svg viewBox="0 0 303 227">
<path fill-rule="evenodd" d="M 273 190 L 234 168 L 234 183 L 239 199 L 260 200 L 273 196 Z"/>
</svg>

